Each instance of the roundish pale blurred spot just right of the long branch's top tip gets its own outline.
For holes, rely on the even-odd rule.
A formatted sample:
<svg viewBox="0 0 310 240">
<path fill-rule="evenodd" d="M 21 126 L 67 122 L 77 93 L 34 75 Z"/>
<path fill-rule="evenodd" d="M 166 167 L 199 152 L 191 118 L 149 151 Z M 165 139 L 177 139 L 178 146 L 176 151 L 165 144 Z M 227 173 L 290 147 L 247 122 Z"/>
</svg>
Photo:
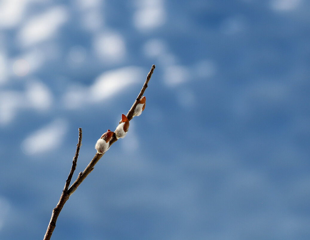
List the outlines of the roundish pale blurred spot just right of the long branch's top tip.
<svg viewBox="0 0 310 240">
<path fill-rule="evenodd" d="M 164 71 L 164 82 L 169 87 L 178 86 L 190 78 L 189 70 L 185 66 L 168 66 Z"/>
</svg>

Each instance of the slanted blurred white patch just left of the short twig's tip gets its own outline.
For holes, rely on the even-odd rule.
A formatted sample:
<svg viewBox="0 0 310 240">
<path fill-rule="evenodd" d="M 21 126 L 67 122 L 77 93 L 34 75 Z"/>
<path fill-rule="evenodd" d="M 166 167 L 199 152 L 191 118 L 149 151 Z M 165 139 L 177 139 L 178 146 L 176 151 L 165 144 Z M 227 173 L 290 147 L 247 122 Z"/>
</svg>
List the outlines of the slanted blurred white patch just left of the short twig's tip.
<svg viewBox="0 0 310 240">
<path fill-rule="evenodd" d="M 67 130 L 68 122 L 56 119 L 24 139 L 21 148 L 28 155 L 55 150 L 63 142 Z"/>
</svg>

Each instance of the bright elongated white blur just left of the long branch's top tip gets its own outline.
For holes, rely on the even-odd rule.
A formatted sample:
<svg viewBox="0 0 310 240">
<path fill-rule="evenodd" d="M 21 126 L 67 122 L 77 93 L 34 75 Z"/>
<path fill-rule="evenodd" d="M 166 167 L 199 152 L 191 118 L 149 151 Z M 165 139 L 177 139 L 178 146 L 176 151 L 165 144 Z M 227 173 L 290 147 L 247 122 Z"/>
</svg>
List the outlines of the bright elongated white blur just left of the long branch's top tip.
<svg viewBox="0 0 310 240">
<path fill-rule="evenodd" d="M 144 79 L 139 67 L 123 67 L 104 72 L 90 87 L 90 99 L 101 101 L 125 90 L 129 85 Z"/>
</svg>

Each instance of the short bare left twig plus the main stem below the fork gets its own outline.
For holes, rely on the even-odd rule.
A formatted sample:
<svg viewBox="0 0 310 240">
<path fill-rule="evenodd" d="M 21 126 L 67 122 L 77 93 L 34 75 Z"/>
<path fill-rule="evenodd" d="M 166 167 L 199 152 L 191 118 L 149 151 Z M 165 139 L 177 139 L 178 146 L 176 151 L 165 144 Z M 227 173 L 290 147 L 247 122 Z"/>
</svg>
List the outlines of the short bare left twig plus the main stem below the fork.
<svg viewBox="0 0 310 240">
<path fill-rule="evenodd" d="M 47 226 L 47 230 L 46 233 L 44 235 L 44 239 L 43 240 L 49 240 L 52 236 L 52 233 L 56 227 L 56 221 L 57 218 L 60 214 L 60 211 L 62 210 L 64 204 L 66 203 L 66 201 L 69 199 L 69 194 L 68 194 L 68 187 L 70 185 L 73 173 L 75 171 L 76 165 L 77 165 L 77 161 L 78 161 L 78 154 L 80 151 L 80 147 L 81 147 L 81 142 L 82 142 L 82 128 L 80 127 L 78 129 L 78 144 L 77 144 L 77 150 L 75 151 L 75 155 L 73 157 L 72 160 L 72 167 L 70 169 L 70 173 L 68 175 L 68 178 L 66 180 L 66 184 L 64 185 L 64 190 L 62 190 L 60 199 L 56 205 L 56 207 L 53 209 L 52 211 L 52 216 L 51 216 L 51 220 Z"/>
</svg>

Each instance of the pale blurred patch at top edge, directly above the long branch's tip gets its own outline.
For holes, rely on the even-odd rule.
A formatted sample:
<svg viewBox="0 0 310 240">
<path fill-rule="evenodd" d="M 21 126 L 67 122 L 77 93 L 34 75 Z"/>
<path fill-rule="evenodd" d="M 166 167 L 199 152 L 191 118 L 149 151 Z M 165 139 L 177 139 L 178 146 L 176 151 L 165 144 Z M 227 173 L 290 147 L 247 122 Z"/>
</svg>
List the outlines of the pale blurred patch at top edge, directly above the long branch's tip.
<svg viewBox="0 0 310 240">
<path fill-rule="evenodd" d="M 166 12 L 162 0 L 138 0 L 137 7 L 133 16 L 133 23 L 137 29 L 152 30 L 165 23 Z"/>
</svg>

